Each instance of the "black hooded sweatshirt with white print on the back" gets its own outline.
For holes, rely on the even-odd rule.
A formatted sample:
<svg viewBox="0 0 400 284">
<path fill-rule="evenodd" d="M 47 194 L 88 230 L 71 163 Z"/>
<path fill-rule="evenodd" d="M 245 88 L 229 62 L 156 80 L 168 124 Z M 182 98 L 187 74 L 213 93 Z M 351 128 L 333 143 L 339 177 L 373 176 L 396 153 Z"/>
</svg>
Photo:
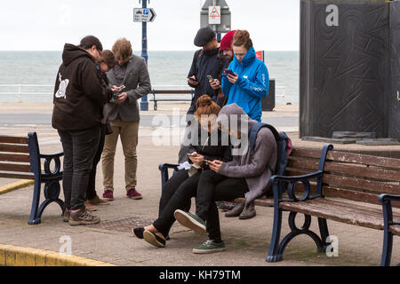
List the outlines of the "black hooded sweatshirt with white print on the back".
<svg viewBox="0 0 400 284">
<path fill-rule="evenodd" d="M 99 125 L 102 106 L 110 93 L 101 80 L 92 56 L 66 43 L 54 87 L 52 127 L 57 130 L 86 130 Z"/>
</svg>

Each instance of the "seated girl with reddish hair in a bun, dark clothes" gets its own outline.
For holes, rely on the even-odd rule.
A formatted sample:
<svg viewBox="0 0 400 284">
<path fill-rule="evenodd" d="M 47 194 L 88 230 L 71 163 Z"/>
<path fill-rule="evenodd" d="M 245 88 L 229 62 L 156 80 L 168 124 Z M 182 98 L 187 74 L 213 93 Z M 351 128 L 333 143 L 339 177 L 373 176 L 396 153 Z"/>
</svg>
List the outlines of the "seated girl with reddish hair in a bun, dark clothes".
<svg viewBox="0 0 400 284">
<path fill-rule="evenodd" d="M 195 117 L 201 127 L 197 130 L 198 138 L 195 140 L 192 136 L 192 144 L 188 150 L 188 159 L 193 166 L 190 170 L 178 170 L 165 183 L 159 203 L 159 217 L 154 224 L 133 229 L 138 238 L 144 238 L 157 247 L 165 246 L 165 238 L 175 222 L 173 212 L 188 207 L 202 173 L 212 171 L 205 161 L 232 160 L 229 141 L 224 141 L 216 123 L 220 106 L 208 95 L 203 95 L 197 100 L 196 109 Z"/>
</svg>

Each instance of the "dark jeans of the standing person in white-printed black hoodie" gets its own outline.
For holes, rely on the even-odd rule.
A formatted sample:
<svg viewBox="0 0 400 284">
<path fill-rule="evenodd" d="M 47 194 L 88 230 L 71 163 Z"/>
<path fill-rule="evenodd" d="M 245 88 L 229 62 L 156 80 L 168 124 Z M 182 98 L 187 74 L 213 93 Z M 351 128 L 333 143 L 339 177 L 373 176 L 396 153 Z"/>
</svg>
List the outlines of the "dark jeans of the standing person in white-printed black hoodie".
<svg viewBox="0 0 400 284">
<path fill-rule="evenodd" d="M 88 130 L 59 130 L 59 135 L 64 151 L 62 187 L 65 206 L 70 210 L 81 209 L 99 145 L 100 125 Z"/>
</svg>

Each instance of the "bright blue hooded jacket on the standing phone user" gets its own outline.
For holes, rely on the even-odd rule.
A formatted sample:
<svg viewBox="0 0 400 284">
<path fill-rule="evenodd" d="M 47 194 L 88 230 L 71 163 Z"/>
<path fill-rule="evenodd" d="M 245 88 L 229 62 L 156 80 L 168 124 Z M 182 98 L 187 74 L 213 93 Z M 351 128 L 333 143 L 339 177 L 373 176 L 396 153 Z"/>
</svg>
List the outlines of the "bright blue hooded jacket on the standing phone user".
<svg viewBox="0 0 400 284">
<path fill-rule="evenodd" d="M 239 78 L 233 84 L 229 82 L 227 75 L 222 76 L 222 91 L 228 97 L 227 105 L 235 103 L 250 118 L 261 122 L 261 98 L 265 98 L 269 90 L 268 68 L 256 58 L 253 47 L 244 55 L 242 63 L 234 56 L 228 68 L 239 75 Z"/>
</svg>

